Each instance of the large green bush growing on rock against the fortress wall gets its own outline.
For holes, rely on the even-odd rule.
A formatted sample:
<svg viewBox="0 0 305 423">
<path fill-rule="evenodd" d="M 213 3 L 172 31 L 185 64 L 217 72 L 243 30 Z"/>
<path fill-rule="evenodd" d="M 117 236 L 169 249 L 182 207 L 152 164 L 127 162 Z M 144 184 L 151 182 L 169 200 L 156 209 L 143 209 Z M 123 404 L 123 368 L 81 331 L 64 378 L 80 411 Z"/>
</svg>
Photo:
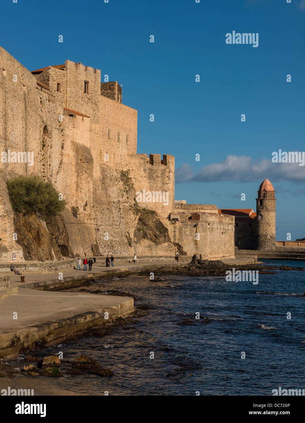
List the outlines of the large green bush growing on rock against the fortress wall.
<svg viewBox="0 0 305 423">
<path fill-rule="evenodd" d="M 7 183 L 8 195 L 16 213 L 40 213 L 45 218 L 54 217 L 65 208 L 59 193 L 49 182 L 39 176 L 18 176 Z"/>
</svg>

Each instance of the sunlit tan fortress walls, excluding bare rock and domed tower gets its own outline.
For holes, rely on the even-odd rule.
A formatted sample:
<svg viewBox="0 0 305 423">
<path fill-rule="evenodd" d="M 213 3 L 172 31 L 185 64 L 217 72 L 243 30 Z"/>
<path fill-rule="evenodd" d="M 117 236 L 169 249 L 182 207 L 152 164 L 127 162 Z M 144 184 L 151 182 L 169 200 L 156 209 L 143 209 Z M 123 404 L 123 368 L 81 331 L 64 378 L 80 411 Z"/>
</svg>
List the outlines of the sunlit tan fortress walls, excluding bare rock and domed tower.
<svg viewBox="0 0 305 423">
<path fill-rule="evenodd" d="M 13 211 L 5 184 L 19 174 L 41 176 L 63 194 L 66 208 L 60 228 L 66 228 L 66 250 L 74 255 L 171 255 L 170 242 L 132 242 L 139 207 L 156 211 L 172 228 L 168 217 L 174 209 L 174 157 L 136 154 L 137 112 L 121 103 L 120 85 L 101 83 L 100 70 L 70 60 L 31 73 L 0 48 L 0 62 L 0 152 L 33 153 L 30 165 L 0 163 L 0 259 L 10 261 L 15 252 L 22 260 L 21 247 L 13 239 Z M 145 198 L 137 203 L 136 192 L 143 190 Z M 211 258 L 231 255 L 233 238 L 230 243 L 223 236 L 229 232 L 224 230 L 229 220 L 215 216 L 213 207 L 193 206 L 194 211 L 214 214 L 199 223 L 205 233 L 210 222 L 209 235 L 205 234 L 209 244 L 196 247 Z M 180 225 L 187 240 L 181 229 L 175 242 L 192 249 L 188 223 Z M 53 235 L 59 238 L 61 233 Z"/>
</svg>

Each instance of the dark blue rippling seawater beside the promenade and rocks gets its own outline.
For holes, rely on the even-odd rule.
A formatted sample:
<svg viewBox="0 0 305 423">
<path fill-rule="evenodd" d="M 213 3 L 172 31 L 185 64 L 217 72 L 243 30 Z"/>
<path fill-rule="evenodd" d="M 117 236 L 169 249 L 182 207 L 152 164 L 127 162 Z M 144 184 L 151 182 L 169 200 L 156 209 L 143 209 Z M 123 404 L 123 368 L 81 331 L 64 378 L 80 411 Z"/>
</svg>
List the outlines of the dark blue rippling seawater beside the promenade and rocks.
<svg viewBox="0 0 305 423">
<path fill-rule="evenodd" d="M 302 267 L 297 261 L 266 263 Z M 164 281 L 149 275 L 97 281 L 103 289 L 134 295 L 135 306 L 153 309 L 110 335 L 33 352 L 62 351 L 65 360 L 86 354 L 114 372 L 112 378 L 48 380 L 58 394 L 63 389 L 82 395 L 270 396 L 279 386 L 305 388 L 305 272 L 259 275 L 258 285 L 226 282 L 224 276 L 161 277 Z M 184 318 L 193 326 L 179 325 Z"/>
</svg>

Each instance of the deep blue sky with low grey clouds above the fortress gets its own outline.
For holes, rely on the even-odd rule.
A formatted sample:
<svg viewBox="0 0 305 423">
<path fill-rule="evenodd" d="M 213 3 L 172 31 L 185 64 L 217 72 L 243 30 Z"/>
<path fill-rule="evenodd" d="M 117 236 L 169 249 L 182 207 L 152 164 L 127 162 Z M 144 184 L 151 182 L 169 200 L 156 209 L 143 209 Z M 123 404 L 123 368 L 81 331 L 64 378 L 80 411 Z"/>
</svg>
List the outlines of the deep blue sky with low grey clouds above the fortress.
<svg viewBox="0 0 305 423">
<path fill-rule="evenodd" d="M 305 150 L 305 0 L 18 0 L 1 10 L 0 45 L 27 69 L 69 59 L 123 85 L 138 153 L 176 158 L 176 199 L 255 209 L 267 177 L 277 239 L 305 237 L 305 166 L 271 162 L 273 151 Z M 259 33 L 259 46 L 226 44 L 233 30 Z"/>
</svg>

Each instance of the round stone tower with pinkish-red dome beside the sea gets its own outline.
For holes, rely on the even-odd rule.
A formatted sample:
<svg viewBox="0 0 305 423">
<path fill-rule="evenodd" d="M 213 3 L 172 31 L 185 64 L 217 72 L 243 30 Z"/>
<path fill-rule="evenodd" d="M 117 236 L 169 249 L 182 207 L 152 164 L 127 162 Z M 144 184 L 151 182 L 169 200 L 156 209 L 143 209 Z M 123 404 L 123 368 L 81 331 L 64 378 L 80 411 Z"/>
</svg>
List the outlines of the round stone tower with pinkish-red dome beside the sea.
<svg viewBox="0 0 305 423">
<path fill-rule="evenodd" d="M 275 190 L 266 178 L 256 198 L 256 239 L 258 250 L 275 249 Z"/>
</svg>

